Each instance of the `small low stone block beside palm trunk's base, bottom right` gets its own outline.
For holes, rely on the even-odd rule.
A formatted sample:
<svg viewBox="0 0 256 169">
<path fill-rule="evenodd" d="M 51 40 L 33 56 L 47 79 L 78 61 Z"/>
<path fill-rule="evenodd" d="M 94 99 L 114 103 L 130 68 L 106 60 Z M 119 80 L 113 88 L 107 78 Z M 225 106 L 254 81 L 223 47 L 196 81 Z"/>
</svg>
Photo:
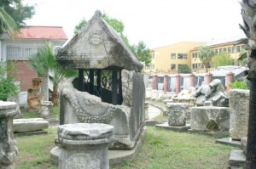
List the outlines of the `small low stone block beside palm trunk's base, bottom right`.
<svg viewBox="0 0 256 169">
<path fill-rule="evenodd" d="M 246 162 L 246 155 L 242 150 L 232 149 L 230 152 L 230 166 L 243 166 Z"/>
</svg>

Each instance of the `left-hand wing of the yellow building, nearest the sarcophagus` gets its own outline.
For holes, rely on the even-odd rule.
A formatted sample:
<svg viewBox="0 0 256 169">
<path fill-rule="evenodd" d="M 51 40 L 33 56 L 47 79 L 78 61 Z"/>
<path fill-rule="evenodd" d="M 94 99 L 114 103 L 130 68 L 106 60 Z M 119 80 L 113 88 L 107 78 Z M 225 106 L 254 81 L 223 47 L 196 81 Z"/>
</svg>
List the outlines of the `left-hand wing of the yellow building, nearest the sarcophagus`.
<svg viewBox="0 0 256 169">
<path fill-rule="evenodd" d="M 191 68 L 190 50 L 206 42 L 177 42 L 160 48 L 151 49 L 151 65 L 145 67 L 145 73 L 177 74 L 179 65 L 189 65 Z"/>
</svg>

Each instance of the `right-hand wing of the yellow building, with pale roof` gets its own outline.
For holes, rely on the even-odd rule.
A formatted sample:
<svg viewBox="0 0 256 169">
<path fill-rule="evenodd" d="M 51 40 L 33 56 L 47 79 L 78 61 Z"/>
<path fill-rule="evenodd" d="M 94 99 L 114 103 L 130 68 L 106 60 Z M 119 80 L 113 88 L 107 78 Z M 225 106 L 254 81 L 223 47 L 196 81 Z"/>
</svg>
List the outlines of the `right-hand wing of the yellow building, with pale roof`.
<svg viewBox="0 0 256 169">
<path fill-rule="evenodd" d="M 237 40 L 237 37 L 230 38 L 230 39 L 224 39 L 224 40 L 218 40 L 214 42 L 208 42 L 206 45 L 207 47 L 211 48 L 214 54 L 219 54 L 222 52 L 227 52 L 230 54 L 230 58 L 234 59 L 235 61 L 239 59 L 240 54 L 242 50 L 245 48 L 244 38 L 239 38 Z M 198 58 L 198 52 L 200 50 L 200 47 L 191 49 L 191 70 L 192 72 L 201 72 L 205 71 L 203 69 L 203 65 L 201 65 L 201 60 Z M 214 57 L 214 56 L 213 56 Z"/>
</svg>

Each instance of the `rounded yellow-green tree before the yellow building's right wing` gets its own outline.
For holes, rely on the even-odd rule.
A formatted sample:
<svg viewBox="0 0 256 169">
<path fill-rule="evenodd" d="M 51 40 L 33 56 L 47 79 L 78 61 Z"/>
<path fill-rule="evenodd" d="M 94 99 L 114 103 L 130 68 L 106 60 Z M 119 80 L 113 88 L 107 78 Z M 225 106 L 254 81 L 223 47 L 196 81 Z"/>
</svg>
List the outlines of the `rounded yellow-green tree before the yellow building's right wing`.
<svg viewBox="0 0 256 169">
<path fill-rule="evenodd" d="M 217 68 L 221 65 L 234 65 L 229 53 L 219 53 L 212 57 L 212 67 Z"/>
</svg>

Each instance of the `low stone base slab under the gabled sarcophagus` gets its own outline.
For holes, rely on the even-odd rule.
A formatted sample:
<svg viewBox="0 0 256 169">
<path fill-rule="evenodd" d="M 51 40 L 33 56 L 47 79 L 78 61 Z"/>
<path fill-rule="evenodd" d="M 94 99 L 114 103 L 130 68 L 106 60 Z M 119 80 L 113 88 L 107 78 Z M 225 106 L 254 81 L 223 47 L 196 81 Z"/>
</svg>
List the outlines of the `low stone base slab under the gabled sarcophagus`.
<svg viewBox="0 0 256 169">
<path fill-rule="evenodd" d="M 143 140 L 146 138 L 146 136 L 147 127 L 143 127 L 141 137 L 138 139 L 134 149 L 108 149 L 109 164 L 117 165 L 121 164 L 123 161 L 132 161 L 135 159 L 143 145 Z M 55 147 L 54 149 L 50 150 L 50 158 L 55 163 L 55 165 L 58 165 L 59 163 L 60 152 L 61 149 L 59 147 Z"/>
</svg>

